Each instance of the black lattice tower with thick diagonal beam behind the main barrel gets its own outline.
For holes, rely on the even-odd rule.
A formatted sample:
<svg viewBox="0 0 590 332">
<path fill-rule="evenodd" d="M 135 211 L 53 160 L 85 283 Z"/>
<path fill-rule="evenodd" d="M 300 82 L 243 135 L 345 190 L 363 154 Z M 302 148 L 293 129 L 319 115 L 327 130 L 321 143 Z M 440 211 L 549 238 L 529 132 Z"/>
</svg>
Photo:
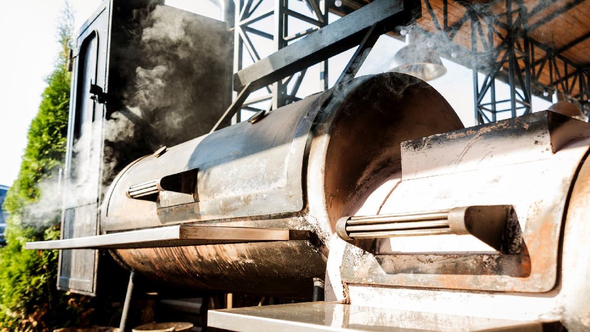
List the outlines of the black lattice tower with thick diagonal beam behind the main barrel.
<svg viewBox="0 0 590 332">
<path fill-rule="evenodd" d="M 268 110 L 298 100 L 295 96 L 297 89 L 299 89 L 307 69 L 314 64 L 320 63 L 322 66 L 319 79 L 323 85 L 323 90 L 326 90 L 328 88 L 327 59 L 360 45 L 337 83 L 354 77 L 368 55 L 368 50 L 373 47 L 379 35 L 394 30 L 398 25 L 409 24 L 412 19 L 421 17 L 418 0 L 376 0 L 332 24 L 327 24 L 327 6 L 324 0 L 304 0 L 310 11 L 318 17 L 320 13 L 323 15 L 323 21 L 309 17 L 305 18 L 306 15 L 292 11 L 289 9 L 288 0 L 276 0 L 273 11 L 253 16 L 255 8 L 262 4 L 263 1 L 240 0 L 239 6 L 235 7 L 237 14 L 234 27 L 236 38 L 234 40 L 233 87 L 237 95 L 224 115 L 211 129 L 211 132 L 217 130 L 219 126 L 224 125 L 228 122 L 228 119 L 234 116 L 233 121 L 241 121 L 240 113 L 242 109 L 257 111 L 253 117 L 248 119 L 248 121 L 254 122 L 260 119 Z M 323 10 L 320 5 L 323 6 Z M 277 51 L 266 58 L 261 58 L 254 44 L 248 38 L 247 32 L 270 39 L 270 33 L 250 26 L 253 21 L 260 21 L 261 17 L 269 17 L 270 15 L 275 16 L 274 27 L 276 31 L 272 36 Z M 315 24 L 316 27 L 287 35 L 289 32 L 287 29 L 289 16 L 304 21 L 308 20 Z M 326 25 L 317 28 L 320 23 Z M 299 38 L 301 39 L 299 40 Z M 290 44 L 290 41 L 293 41 L 293 43 Z M 252 60 L 254 60 L 253 64 L 245 68 L 243 67 L 244 47 L 248 50 Z M 296 89 L 292 89 L 287 93 L 287 86 L 296 75 L 297 79 L 294 84 Z M 258 89 L 267 89 L 267 95 L 248 100 L 248 96 Z M 265 100 L 273 100 L 269 109 L 251 107 L 252 104 Z"/>
</svg>

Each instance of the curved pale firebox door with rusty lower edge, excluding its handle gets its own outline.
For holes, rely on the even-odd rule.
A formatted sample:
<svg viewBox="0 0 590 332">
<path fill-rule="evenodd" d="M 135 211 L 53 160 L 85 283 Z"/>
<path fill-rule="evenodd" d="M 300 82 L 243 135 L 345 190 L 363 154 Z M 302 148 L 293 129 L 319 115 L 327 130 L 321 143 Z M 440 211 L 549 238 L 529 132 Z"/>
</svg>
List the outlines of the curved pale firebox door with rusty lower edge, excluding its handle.
<svg viewBox="0 0 590 332">
<path fill-rule="evenodd" d="M 439 140 L 407 142 L 402 161 L 409 171 L 404 169 L 401 184 L 381 209 L 396 213 L 424 209 L 425 204 L 430 209 L 512 204 L 523 238 L 520 253 L 489 252 L 463 235 L 380 239 L 376 255 L 349 246 L 342 262 L 343 281 L 487 291 L 553 289 L 567 194 L 590 140 L 576 140 L 580 131 L 571 131 L 575 140 L 566 143 L 566 137 L 560 137 L 560 148 L 553 153 L 556 140 L 551 136 L 570 120 L 558 116 L 556 124 L 552 117 L 536 113 L 439 135 Z M 587 132 L 588 124 L 571 121 Z"/>
</svg>

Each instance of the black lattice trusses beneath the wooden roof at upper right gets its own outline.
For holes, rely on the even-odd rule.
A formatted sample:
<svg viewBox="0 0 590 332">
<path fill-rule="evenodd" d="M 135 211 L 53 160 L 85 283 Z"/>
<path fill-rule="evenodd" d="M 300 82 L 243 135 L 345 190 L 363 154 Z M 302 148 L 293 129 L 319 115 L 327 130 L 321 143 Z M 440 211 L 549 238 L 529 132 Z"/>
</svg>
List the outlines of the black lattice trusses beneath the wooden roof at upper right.
<svg viewBox="0 0 590 332">
<path fill-rule="evenodd" d="M 430 0 L 423 1 L 428 9 L 428 19 L 432 20 L 437 31 L 421 31 L 433 38 L 440 40 L 443 37 L 442 40 L 451 44 L 460 28 L 470 24 L 471 49 L 466 50 L 457 44 L 447 45 L 447 49 L 469 59 L 462 64 L 473 69 L 474 115 L 479 124 L 496 121 L 503 112 L 510 112 L 512 117 L 530 113 L 532 95 L 547 98 L 544 94 L 553 90 L 558 90 L 572 102 L 578 102 L 588 115 L 590 66 L 578 66 L 562 53 L 590 38 L 590 33 L 558 50 L 529 37 L 530 31 L 574 8 L 582 0 L 569 2 L 546 17 L 536 19 L 533 24 L 530 24 L 531 18 L 546 6 L 543 1 L 527 11 L 523 0 L 504 0 L 504 14 L 500 16 L 490 12 L 486 5 L 457 2 L 466 8 L 466 12 L 452 25 L 448 24 L 448 0 L 442 0 L 442 23 Z M 545 56 L 535 58 L 539 53 Z M 547 72 L 550 83 L 543 84 L 539 78 Z M 479 73 L 485 75 L 483 80 L 478 77 Z M 509 99 L 497 98 L 496 79 L 509 84 Z"/>
</svg>

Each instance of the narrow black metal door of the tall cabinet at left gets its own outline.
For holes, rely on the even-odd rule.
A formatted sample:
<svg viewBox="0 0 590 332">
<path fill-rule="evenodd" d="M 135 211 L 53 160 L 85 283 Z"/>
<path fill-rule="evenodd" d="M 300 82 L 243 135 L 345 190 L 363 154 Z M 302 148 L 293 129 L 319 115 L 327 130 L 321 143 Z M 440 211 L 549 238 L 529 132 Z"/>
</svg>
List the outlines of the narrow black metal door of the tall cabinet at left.
<svg viewBox="0 0 590 332">
<path fill-rule="evenodd" d="M 62 216 L 63 239 L 97 235 L 103 154 L 104 90 L 110 5 L 104 4 L 81 29 L 72 75 Z M 97 250 L 61 250 L 58 288 L 96 293 Z"/>
</svg>

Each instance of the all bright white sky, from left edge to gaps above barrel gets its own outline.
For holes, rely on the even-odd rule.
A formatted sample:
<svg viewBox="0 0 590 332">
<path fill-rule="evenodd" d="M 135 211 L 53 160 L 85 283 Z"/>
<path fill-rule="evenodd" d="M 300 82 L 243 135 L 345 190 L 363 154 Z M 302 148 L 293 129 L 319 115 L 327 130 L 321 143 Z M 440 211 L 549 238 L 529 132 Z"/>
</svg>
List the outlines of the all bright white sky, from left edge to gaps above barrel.
<svg viewBox="0 0 590 332">
<path fill-rule="evenodd" d="M 70 0 L 70 3 L 75 12 L 77 32 L 100 1 Z M 218 18 L 215 6 L 205 0 L 168 0 L 166 4 Z M 53 69 L 53 61 L 58 53 L 56 26 L 63 5 L 63 0 L 5 1 L 2 4 L 0 45 L 3 45 L 4 51 L 0 51 L 0 184 L 12 185 L 17 177 L 22 152 L 27 144 L 28 126 L 37 113 L 41 93 L 46 85 L 44 77 Z M 391 57 L 403 45 L 401 41 L 382 36 L 360 73 L 385 71 Z M 344 67 L 351 53 L 347 54 L 335 57 L 330 62 L 330 82 L 339 76 L 337 69 Z M 429 83 L 455 108 L 463 123 L 472 126 L 471 70 L 445 59 L 443 63 L 447 67 L 447 74 Z M 313 86 L 302 88 L 303 93 L 306 90 L 313 93 L 316 89 Z M 548 106 L 549 103 L 543 100 L 533 100 L 535 111 Z"/>
</svg>

